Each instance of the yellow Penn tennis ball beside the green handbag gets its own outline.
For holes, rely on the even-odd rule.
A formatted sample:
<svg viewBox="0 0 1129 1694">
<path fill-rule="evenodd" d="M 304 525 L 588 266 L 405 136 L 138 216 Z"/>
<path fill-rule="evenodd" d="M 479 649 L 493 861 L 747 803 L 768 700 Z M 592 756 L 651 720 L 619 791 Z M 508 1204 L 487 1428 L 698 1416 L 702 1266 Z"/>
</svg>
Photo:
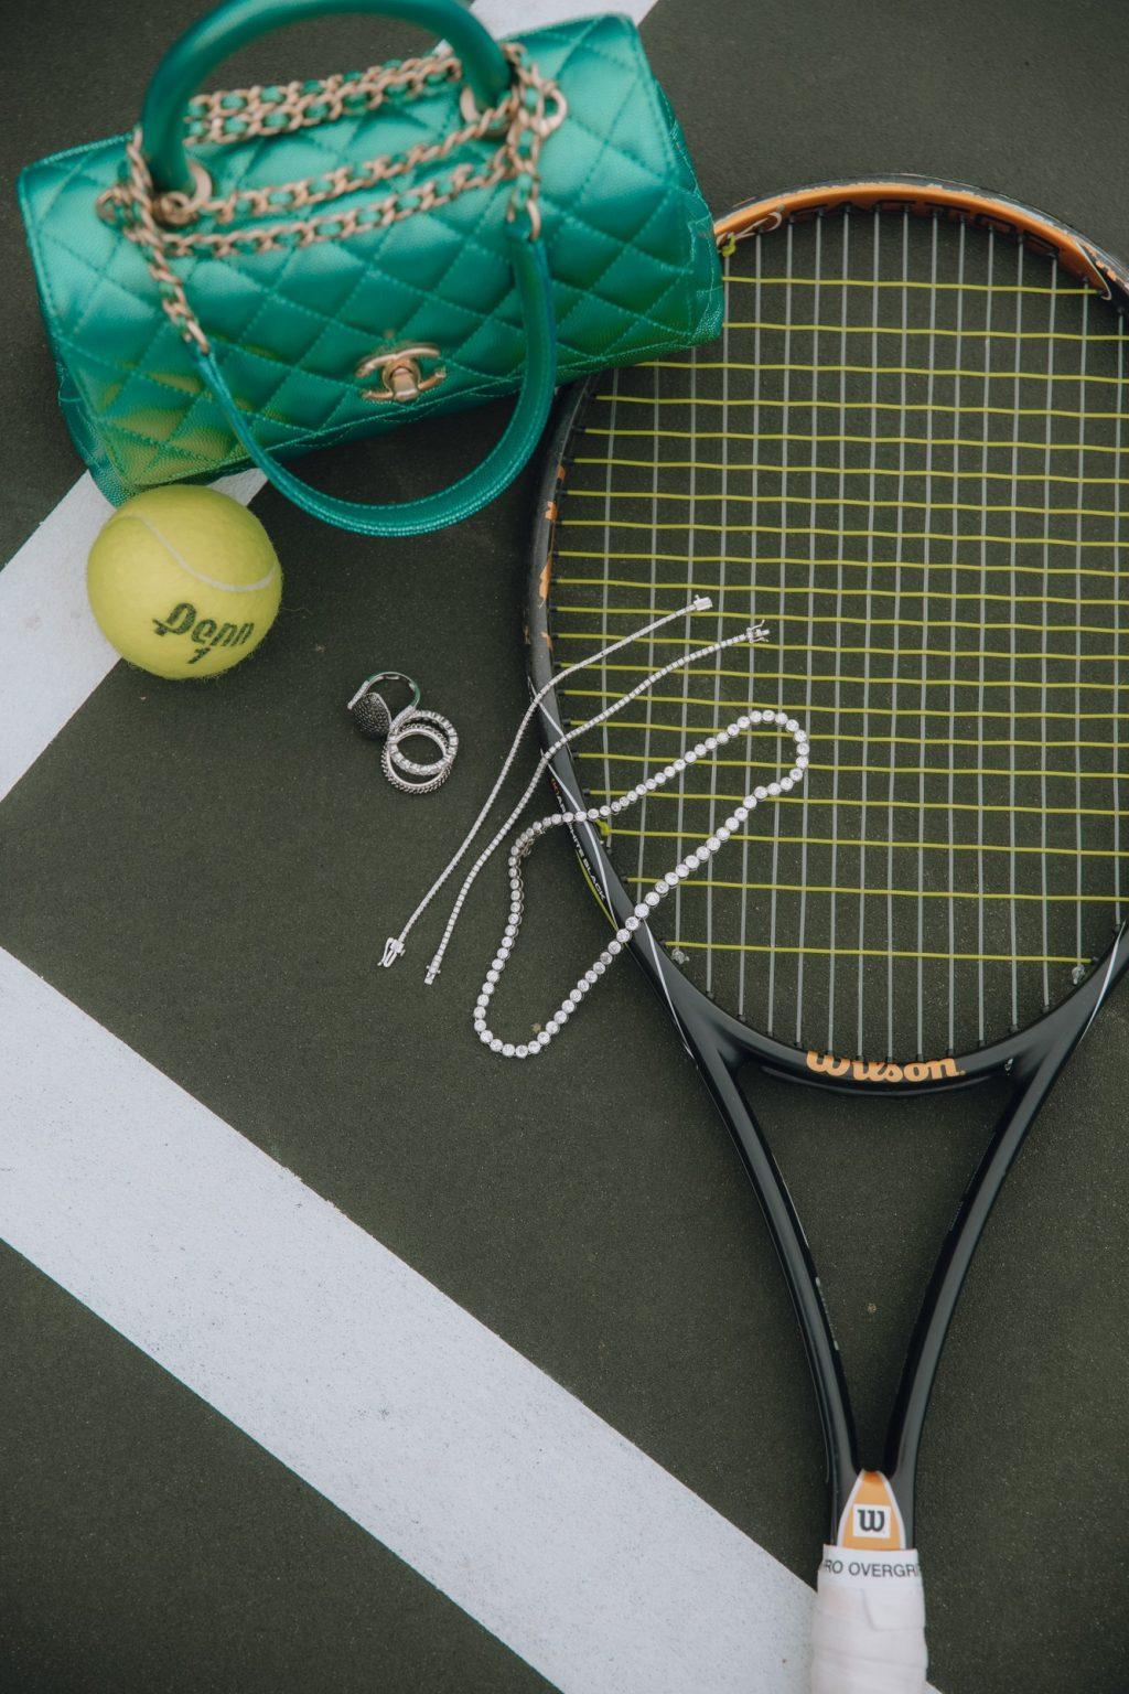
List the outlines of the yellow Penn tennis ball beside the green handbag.
<svg viewBox="0 0 1129 1694">
<path fill-rule="evenodd" d="M 213 488 L 149 488 L 103 525 L 86 593 L 107 640 L 154 676 L 230 671 L 271 628 L 283 571 L 267 532 Z"/>
</svg>

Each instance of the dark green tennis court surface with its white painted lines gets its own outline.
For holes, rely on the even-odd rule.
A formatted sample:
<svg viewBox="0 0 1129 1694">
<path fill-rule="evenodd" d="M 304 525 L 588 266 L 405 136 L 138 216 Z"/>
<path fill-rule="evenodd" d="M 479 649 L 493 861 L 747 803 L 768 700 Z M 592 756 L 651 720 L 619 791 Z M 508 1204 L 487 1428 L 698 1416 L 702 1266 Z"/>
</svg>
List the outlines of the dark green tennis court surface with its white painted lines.
<svg viewBox="0 0 1129 1694">
<path fill-rule="evenodd" d="M 10 24 L 5 181 L 130 127 L 198 10 L 42 0 Z M 482 14 L 520 30 L 567 10 Z M 921 171 L 1129 254 L 1112 7 L 635 15 L 718 213 Z M 418 41 L 340 17 L 229 76 Z M 83 590 L 108 508 L 5 205 L 0 1689 L 801 1694 L 818 1414 L 755 1198 L 662 1006 L 625 962 L 535 1064 L 484 1054 L 471 1010 L 501 876 L 433 988 L 427 945 L 377 969 L 528 698 L 537 466 L 459 529 L 394 542 L 244 478 L 284 571 L 267 642 L 210 686 L 115 664 Z M 406 498 L 503 418 L 306 468 Z M 386 786 L 344 710 L 384 667 L 459 728 L 425 800 Z M 531 866 L 513 966 L 535 1015 L 606 940 L 562 835 Z M 1024 1147 L 945 1350 L 917 1540 L 943 1694 L 1129 1686 L 1127 1021 L 1122 986 Z M 757 1101 L 877 1442 L 995 1101 L 875 1116 L 768 1079 Z"/>
</svg>

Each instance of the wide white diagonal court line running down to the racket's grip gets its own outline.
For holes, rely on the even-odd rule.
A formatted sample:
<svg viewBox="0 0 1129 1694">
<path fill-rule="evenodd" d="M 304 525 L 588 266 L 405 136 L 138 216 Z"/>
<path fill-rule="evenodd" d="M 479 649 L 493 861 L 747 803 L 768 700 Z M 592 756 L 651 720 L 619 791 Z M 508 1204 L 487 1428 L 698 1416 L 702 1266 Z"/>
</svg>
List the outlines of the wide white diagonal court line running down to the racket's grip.
<svg viewBox="0 0 1129 1694">
<path fill-rule="evenodd" d="M 801 1694 L 811 1589 L 0 952 L 0 1237 L 564 1694 Z"/>
</svg>

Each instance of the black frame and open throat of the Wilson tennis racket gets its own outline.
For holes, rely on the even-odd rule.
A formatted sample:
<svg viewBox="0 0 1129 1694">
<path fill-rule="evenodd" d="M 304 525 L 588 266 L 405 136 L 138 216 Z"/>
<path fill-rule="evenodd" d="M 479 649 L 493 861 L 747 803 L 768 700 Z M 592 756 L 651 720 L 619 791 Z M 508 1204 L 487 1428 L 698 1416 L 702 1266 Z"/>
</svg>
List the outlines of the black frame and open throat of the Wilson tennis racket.
<svg viewBox="0 0 1129 1694">
<path fill-rule="evenodd" d="M 850 188 L 863 190 L 860 205 L 873 205 L 878 200 L 875 190 L 887 183 L 894 185 L 894 181 L 897 181 L 899 188 L 912 185 L 922 191 L 926 188 L 931 193 L 938 191 L 936 185 L 924 185 L 917 178 L 887 178 L 882 185 L 850 185 Z M 840 200 L 845 198 L 841 190 L 836 191 L 840 193 Z M 951 185 L 941 185 L 939 191 L 960 195 L 961 198 L 975 193 L 975 190 L 955 188 Z M 821 190 L 811 190 L 809 193 L 814 203 Z M 926 202 L 922 210 L 929 203 Z M 994 207 L 1004 205 L 997 200 L 992 203 Z M 767 212 L 763 212 L 765 207 L 768 208 Z M 775 215 L 775 202 L 750 203 L 748 208 L 741 208 L 741 213 L 748 217 L 750 210 L 753 213 L 750 224 L 757 227 L 758 217 L 772 219 Z M 1019 210 L 1024 212 L 1027 220 L 1034 217 L 1041 219 L 1041 213 L 1027 213 L 1026 208 Z M 719 235 L 726 234 L 726 230 L 731 234 L 733 217 L 738 215 L 735 213 L 731 219 L 718 224 Z M 760 227 L 775 225 L 768 222 Z M 1016 232 L 1022 232 L 1026 239 L 1033 239 L 1029 222 L 1022 230 L 1017 225 L 1012 227 Z M 1065 225 L 1051 225 L 1051 220 L 1044 220 L 1046 227 L 1070 234 L 1071 242 L 1080 241 L 1073 232 L 1066 232 Z M 1097 281 L 1107 295 L 1114 293 L 1110 283 L 1115 281 L 1117 293 L 1121 295 L 1126 290 L 1126 298 L 1129 300 L 1129 274 L 1124 268 L 1115 264 L 1107 254 L 1099 254 L 1099 249 L 1088 244 L 1085 244 L 1085 252 L 1088 259 L 1100 261 L 1099 278 L 1095 280 L 1092 274 L 1090 280 Z M 552 681 L 548 583 L 553 559 L 557 503 L 567 479 L 567 444 L 574 425 L 582 417 L 599 381 L 601 378 L 596 376 L 589 378 L 587 383 L 564 390 L 557 400 L 550 425 L 550 446 L 545 459 L 547 471 L 540 488 L 526 598 L 526 640 L 533 689 L 542 689 Z M 562 718 L 555 689 L 550 689 L 542 701 L 538 730 L 543 747 L 552 745 L 560 735 Z M 550 774 L 564 810 L 576 811 L 587 806 L 587 801 L 582 800 L 582 784 L 576 762 L 567 747 L 555 754 Z M 584 822 L 572 828 L 572 835 L 601 905 L 614 925 L 623 925 L 635 910 L 635 898 L 620 881 L 599 832 L 592 823 Z M 870 1098 L 970 1088 L 989 1077 L 1000 1076 L 1011 1081 L 1011 1099 L 965 1189 L 938 1255 L 911 1335 L 899 1391 L 889 1420 L 882 1470 L 890 1482 L 902 1513 L 906 1545 L 912 1547 L 914 1487 L 921 1433 L 945 1337 L 965 1276 L 968 1274 L 968 1265 L 1027 1130 L 1034 1123 L 1073 1049 L 1090 1028 L 1102 1001 L 1124 976 L 1126 969 L 1129 969 L 1129 922 L 1122 923 L 1112 935 L 1109 949 L 1093 964 L 1078 988 L 1036 1023 L 978 1050 L 951 1055 L 955 1057 L 953 1069 L 958 1074 L 931 1074 L 922 1081 L 907 1081 L 904 1077 L 900 1081 L 887 1077 L 875 1081 L 867 1074 L 868 1066 L 865 1062 L 862 1064 L 862 1076 L 855 1074 L 853 1069 L 845 1076 L 819 1074 L 812 1071 L 809 1055 L 802 1049 L 750 1030 L 714 1005 L 701 989 L 694 988 L 658 945 L 645 923 L 631 937 L 630 949 L 669 1008 L 687 1052 L 697 1064 L 713 1101 L 736 1142 L 741 1162 L 753 1184 L 780 1257 L 811 1365 L 826 1443 L 831 1542 L 836 1538 L 836 1526 L 862 1469 L 850 1391 L 804 1228 L 765 1133 L 748 1104 L 745 1091 L 738 1084 L 738 1072 L 752 1064 L 794 1082 L 833 1088 L 840 1093 L 867 1094 Z M 877 1066 L 872 1069 L 877 1069 Z M 882 1066 L 882 1069 L 889 1067 Z M 938 1071 L 941 1066 L 934 1064 L 929 1069 Z"/>
</svg>

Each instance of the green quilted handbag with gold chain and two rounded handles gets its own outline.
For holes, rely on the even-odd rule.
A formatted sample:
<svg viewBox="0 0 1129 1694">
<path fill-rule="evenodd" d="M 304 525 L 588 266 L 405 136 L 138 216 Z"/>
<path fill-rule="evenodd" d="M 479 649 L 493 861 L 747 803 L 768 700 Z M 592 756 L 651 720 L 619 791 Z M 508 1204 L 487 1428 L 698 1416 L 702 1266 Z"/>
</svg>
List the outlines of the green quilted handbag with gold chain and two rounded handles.
<svg viewBox="0 0 1129 1694">
<path fill-rule="evenodd" d="M 450 46 L 195 93 L 332 10 Z M 115 503 L 254 462 L 340 529 L 440 529 L 518 474 L 557 381 L 721 324 L 709 212 L 625 17 L 498 42 L 457 0 L 227 0 L 161 61 L 134 136 L 32 164 L 20 205 L 63 412 Z M 486 459 L 420 500 L 337 500 L 283 462 L 515 391 Z"/>
</svg>

